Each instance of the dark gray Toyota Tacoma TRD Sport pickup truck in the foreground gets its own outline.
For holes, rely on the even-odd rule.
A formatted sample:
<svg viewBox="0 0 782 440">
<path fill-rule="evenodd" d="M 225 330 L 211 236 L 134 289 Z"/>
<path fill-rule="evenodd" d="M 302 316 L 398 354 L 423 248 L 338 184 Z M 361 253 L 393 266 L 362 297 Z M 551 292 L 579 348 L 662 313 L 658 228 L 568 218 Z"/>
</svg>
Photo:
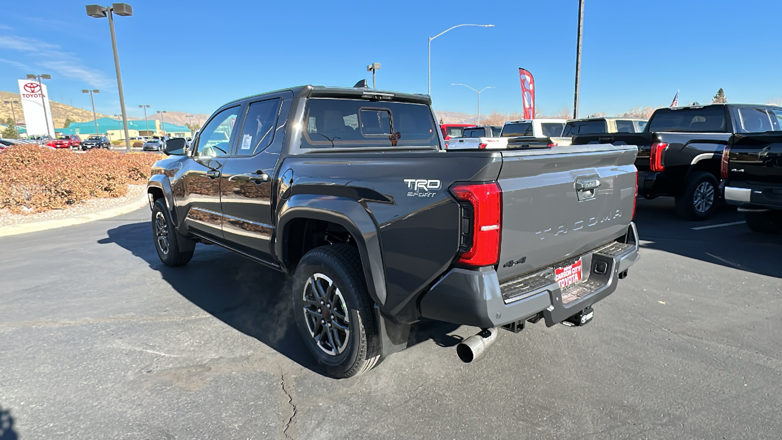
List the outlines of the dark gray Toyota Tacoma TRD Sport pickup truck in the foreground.
<svg viewBox="0 0 782 440">
<path fill-rule="evenodd" d="M 152 168 L 160 259 L 203 242 L 288 273 L 334 377 L 405 348 L 421 318 L 481 327 L 465 361 L 499 327 L 588 323 L 638 256 L 636 146 L 447 151 L 430 103 L 308 85 L 225 104 Z"/>
</svg>

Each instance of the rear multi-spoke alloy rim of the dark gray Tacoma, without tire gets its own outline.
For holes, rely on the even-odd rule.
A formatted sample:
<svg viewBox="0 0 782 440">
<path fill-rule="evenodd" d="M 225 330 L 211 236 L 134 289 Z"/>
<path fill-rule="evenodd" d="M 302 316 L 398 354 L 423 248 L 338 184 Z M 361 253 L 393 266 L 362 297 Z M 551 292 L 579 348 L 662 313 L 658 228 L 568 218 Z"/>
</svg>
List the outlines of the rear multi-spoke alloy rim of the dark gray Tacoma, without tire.
<svg viewBox="0 0 782 440">
<path fill-rule="evenodd" d="M 350 341 L 350 314 L 345 298 L 334 281 L 315 273 L 304 284 L 304 319 L 317 347 L 336 356 Z"/>
</svg>

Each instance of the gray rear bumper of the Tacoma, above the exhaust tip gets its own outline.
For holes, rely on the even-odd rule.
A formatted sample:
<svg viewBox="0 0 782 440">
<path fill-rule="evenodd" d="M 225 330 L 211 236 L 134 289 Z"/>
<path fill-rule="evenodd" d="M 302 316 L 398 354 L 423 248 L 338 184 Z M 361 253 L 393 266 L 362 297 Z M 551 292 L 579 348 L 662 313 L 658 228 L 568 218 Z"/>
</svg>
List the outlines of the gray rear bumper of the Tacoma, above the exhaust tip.
<svg viewBox="0 0 782 440">
<path fill-rule="evenodd" d="M 622 247 L 619 252 L 607 246 L 584 254 L 582 258 L 589 261 L 589 276 L 582 283 L 567 287 L 564 292 L 553 277 L 549 279 L 540 273 L 500 286 L 497 272 L 493 269 L 450 269 L 421 298 L 421 316 L 447 323 L 496 327 L 523 321 L 543 312 L 546 325 L 553 326 L 616 290 L 620 273 L 638 259 L 638 233 L 633 223 L 628 229 L 626 244 L 630 246 Z M 606 269 L 602 274 L 594 272 L 598 262 L 605 263 Z M 509 299 L 509 286 L 518 287 L 526 280 L 529 280 L 527 285 L 534 287 Z M 565 304 L 563 294 L 565 298 L 576 299 Z"/>
</svg>

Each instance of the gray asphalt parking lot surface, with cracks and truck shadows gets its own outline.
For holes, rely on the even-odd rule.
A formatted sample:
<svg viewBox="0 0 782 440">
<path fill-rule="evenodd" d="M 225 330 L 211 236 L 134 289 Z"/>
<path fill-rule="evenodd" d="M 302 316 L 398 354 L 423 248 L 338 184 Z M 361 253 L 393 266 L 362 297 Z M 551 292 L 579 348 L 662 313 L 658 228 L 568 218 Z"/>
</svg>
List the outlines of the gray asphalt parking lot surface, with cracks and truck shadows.
<svg viewBox="0 0 782 440">
<path fill-rule="evenodd" d="M 314 366 L 282 275 L 203 245 L 165 267 L 146 208 L 3 237 L 0 438 L 779 438 L 782 236 L 741 221 L 639 200 L 641 259 L 588 326 L 463 364 L 475 328 L 421 323 L 350 380 Z"/>
</svg>

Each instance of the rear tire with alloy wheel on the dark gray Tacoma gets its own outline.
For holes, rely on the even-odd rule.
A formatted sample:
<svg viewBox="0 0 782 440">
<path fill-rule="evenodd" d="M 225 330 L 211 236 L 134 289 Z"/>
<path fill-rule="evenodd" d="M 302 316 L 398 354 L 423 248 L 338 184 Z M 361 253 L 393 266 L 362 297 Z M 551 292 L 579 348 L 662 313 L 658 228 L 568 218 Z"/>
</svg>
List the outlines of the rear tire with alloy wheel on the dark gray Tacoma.
<svg viewBox="0 0 782 440">
<path fill-rule="evenodd" d="M 354 377 L 377 365 L 380 335 L 355 247 L 332 244 L 307 252 L 293 276 L 292 300 L 304 344 L 329 376 Z"/>
</svg>

